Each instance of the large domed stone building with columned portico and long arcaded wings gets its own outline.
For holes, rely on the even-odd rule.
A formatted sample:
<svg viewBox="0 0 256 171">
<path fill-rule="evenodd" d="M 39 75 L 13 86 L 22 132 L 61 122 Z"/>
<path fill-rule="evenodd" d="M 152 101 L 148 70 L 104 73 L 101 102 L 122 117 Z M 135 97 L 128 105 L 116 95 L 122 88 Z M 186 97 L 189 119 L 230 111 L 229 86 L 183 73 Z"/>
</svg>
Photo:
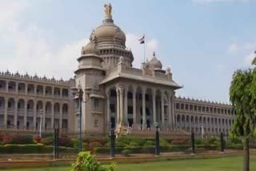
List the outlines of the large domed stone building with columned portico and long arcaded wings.
<svg viewBox="0 0 256 171">
<path fill-rule="evenodd" d="M 175 97 L 182 87 L 170 68 L 162 69 L 155 53 L 141 69 L 126 48 L 126 34 L 114 24 L 112 7 L 82 47 L 74 79 L 56 81 L 29 75 L 0 74 L 0 125 L 14 129 L 54 127 L 77 130 L 78 102 L 70 89 L 83 89 L 82 130 L 183 129 L 195 133 L 228 133 L 234 121 L 230 105 Z"/>
</svg>

